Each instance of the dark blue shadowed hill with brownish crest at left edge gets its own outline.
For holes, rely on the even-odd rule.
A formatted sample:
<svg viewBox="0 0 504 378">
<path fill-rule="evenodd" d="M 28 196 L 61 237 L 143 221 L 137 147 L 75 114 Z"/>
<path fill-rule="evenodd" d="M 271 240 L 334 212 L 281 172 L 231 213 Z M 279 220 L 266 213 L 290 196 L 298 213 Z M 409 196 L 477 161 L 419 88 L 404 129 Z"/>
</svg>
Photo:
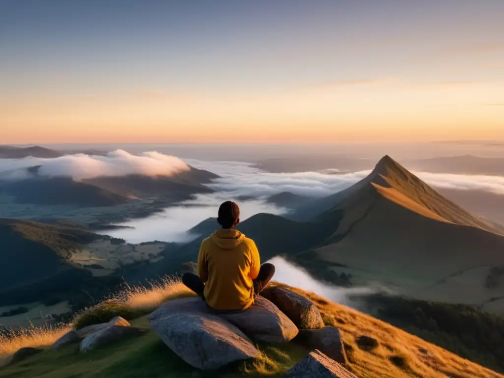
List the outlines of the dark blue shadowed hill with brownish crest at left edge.
<svg viewBox="0 0 504 378">
<path fill-rule="evenodd" d="M 68 262 L 72 251 L 95 234 L 41 223 L 0 219 L 0 303 L 48 299 L 67 285 L 79 285 L 89 272 Z"/>
</svg>

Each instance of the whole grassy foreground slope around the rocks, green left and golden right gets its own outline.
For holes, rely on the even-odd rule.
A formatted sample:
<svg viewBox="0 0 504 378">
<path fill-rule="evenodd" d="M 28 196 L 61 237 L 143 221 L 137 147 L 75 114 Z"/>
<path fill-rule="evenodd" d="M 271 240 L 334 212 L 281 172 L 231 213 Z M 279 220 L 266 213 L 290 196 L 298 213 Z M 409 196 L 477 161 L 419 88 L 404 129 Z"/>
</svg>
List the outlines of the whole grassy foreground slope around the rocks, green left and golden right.
<svg viewBox="0 0 504 378">
<path fill-rule="evenodd" d="M 359 378 L 502 377 L 361 312 L 329 302 L 315 294 L 292 289 L 317 303 L 326 324 L 336 325 L 340 329 L 350 361 L 349 369 Z M 132 325 L 144 328 L 147 332 L 138 338 L 82 354 L 77 353 L 77 345 L 68 346 L 57 352 L 44 351 L 16 365 L 0 369 L 0 376 L 10 378 L 194 376 L 192 374 L 195 370 L 164 346 L 149 330 L 145 316 L 132 321 Z M 370 352 L 360 350 L 355 340 L 362 335 L 375 338 L 379 341 L 379 346 Z M 263 352 L 260 358 L 238 362 L 216 372 L 200 372 L 197 376 L 280 376 L 307 353 L 295 342 L 258 347 Z M 393 361 L 402 362 L 401 366 Z"/>
</svg>

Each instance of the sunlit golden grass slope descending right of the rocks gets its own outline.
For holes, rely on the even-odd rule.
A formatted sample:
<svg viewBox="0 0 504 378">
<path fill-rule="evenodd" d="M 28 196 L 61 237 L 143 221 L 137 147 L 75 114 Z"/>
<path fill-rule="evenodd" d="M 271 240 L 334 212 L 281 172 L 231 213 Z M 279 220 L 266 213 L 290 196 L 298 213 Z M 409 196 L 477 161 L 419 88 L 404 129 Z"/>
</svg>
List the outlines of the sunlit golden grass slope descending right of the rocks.
<svg viewBox="0 0 504 378">
<path fill-rule="evenodd" d="M 362 312 L 314 293 L 288 288 L 312 300 L 326 325 L 339 328 L 350 370 L 359 378 L 504 377 Z M 370 351 L 360 349 L 357 340 L 361 336 L 375 339 L 378 346 Z"/>
</svg>

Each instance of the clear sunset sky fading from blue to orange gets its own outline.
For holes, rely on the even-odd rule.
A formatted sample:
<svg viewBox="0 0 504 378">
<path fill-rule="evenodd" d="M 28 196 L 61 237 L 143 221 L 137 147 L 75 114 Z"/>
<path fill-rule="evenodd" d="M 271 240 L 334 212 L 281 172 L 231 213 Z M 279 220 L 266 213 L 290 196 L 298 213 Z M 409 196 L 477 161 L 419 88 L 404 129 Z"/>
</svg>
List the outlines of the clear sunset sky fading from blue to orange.
<svg viewBox="0 0 504 378">
<path fill-rule="evenodd" d="M 0 144 L 504 141 L 502 0 L 0 0 Z"/>
</svg>

